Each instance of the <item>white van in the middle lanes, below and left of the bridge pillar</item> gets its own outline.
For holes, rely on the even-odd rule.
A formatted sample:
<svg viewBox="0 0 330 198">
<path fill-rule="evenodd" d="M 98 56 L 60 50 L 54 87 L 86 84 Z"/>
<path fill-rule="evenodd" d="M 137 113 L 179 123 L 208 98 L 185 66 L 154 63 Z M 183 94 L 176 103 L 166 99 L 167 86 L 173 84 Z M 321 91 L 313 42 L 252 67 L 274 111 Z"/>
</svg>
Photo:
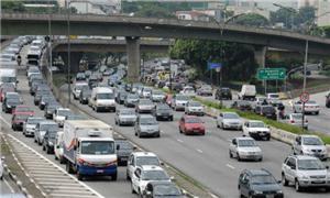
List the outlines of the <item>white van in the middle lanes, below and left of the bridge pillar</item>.
<svg viewBox="0 0 330 198">
<path fill-rule="evenodd" d="M 98 112 L 99 110 L 116 111 L 114 91 L 108 87 L 95 87 L 91 90 L 90 98 L 91 108 Z"/>
</svg>

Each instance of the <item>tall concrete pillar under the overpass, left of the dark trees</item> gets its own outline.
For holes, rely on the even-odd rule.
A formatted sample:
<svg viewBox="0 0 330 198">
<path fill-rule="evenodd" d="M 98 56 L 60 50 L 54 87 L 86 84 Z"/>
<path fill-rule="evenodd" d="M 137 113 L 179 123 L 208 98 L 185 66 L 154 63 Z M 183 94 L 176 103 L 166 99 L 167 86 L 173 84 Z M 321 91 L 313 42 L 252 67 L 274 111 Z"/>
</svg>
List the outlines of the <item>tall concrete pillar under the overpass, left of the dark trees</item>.
<svg viewBox="0 0 330 198">
<path fill-rule="evenodd" d="M 140 37 L 127 36 L 128 53 L 128 80 L 131 82 L 140 81 Z"/>
</svg>

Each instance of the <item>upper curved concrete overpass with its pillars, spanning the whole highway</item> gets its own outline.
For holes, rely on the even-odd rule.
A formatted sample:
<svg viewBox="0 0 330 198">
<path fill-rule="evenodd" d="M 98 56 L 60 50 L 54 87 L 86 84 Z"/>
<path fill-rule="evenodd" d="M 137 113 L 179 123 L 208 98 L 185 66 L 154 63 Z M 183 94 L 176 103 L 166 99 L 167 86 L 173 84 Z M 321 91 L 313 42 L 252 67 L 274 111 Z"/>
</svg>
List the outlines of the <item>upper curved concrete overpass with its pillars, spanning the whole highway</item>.
<svg viewBox="0 0 330 198">
<path fill-rule="evenodd" d="M 1 35 L 48 34 L 47 14 L 1 13 Z M 220 34 L 220 30 L 223 34 Z M 67 34 L 67 15 L 52 15 L 55 35 Z M 168 19 L 144 19 L 106 15 L 72 15 L 70 34 L 125 36 L 129 57 L 129 76 L 138 79 L 140 74 L 140 37 L 170 37 L 228 41 L 256 46 L 256 59 L 264 65 L 266 46 L 304 52 L 306 40 L 309 53 L 329 55 L 330 40 L 251 26 L 218 24 L 216 22 L 180 21 Z"/>
</svg>

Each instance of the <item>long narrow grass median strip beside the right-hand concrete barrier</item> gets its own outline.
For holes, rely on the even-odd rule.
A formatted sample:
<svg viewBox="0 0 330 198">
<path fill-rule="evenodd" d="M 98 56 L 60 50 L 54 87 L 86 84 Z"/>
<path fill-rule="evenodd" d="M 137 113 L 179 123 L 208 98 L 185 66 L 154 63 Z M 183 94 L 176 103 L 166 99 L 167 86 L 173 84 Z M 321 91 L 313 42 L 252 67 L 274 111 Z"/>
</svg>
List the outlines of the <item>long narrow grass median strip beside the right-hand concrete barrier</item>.
<svg viewBox="0 0 330 198">
<path fill-rule="evenodd" d="M 320 132 L 304 130 L 302 128 L 292 125 L 292 124 L 288 124 L 288 123 L 284 123 L 284 122 L 278 122 L 278 121 L 275 121 L 275 120 L 271 120 L 271 119 L 267 119 L 265 117 L 255 114 L 255 113 L 250 112 L 250 111 L 240 111 L 240 110 L 233 109 L 233 108 L 222 108 L 219 103 L 212 102 L 212 101 L 209 101 L 209 100 L 204 100 L 204 99 L 200 99 L 200 98 L 195 98 L 195 100 L 201 102 L 206 107 L 215 108 L 215 109 L 218 109 L 220 111 L 237 112 L 240 117 L 242 117 L 244 119 L 261 120 L 264 123 L 266 123 L 267 125 L 271 125 L 273 128 L 277 128 L 277 129 L 294 133 L 294 134 L 316 134 L 320 139 L 322 139 L 322 141 L 326 144 L 330 144 L 330 136 L 327 135 L 327 134 L 320 133 Z"/>
</svg>

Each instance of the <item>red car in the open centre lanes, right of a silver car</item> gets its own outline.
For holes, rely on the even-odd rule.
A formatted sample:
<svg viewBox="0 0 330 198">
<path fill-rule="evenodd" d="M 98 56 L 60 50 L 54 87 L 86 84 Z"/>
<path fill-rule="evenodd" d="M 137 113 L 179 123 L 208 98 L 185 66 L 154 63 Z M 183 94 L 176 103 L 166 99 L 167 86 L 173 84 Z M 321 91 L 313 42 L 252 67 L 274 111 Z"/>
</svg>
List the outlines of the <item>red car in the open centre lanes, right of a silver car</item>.
<svg viewBox="0 0 330 198">
<path fill-rule="evenodd" d="M 183 116 L 179 120 L 179 131 L 185 134 L 205 135 L 204 122 L 195 116 Z"/>
</svg>

